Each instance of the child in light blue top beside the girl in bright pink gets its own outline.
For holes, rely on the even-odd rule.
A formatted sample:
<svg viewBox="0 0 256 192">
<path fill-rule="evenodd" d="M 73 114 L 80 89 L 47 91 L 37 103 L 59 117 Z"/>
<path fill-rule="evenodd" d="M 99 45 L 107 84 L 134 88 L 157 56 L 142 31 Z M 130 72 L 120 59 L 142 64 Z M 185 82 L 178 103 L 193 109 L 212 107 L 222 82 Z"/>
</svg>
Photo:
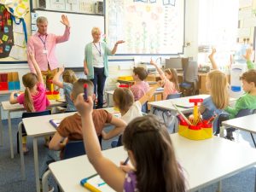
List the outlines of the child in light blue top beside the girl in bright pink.
<svg viewBox="0 0 256 192">
<path fill-rule="evenodd" d="M 63 73 L 63 74 L 62 74 Z M 63 82 L 61 82 L 60 76 L 62 74 Z M 67 109 L 66 111 L 76 111 L 76 108 L 73 105 L 73 101 L 70 98 L 71 91 L 73 89 L 73 83 L 77 81 L 76 74 L 72 70 L 65 70 L 64 67 L 59 68 L 59 72 L 55 74 L 52 79 L 53 84 L 64 90 L 65 99 L 67 101 Z"/>
</svg>

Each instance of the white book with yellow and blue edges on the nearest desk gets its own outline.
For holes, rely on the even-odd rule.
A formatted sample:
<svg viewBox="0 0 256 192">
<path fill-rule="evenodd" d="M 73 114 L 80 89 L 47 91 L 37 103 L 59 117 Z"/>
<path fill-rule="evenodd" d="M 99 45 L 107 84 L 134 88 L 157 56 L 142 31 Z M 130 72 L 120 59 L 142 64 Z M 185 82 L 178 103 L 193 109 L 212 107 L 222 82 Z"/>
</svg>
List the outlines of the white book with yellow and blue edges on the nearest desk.
<svg viewBox="0 0 256 192">
<path fill-rule="evenodd" d="M 80 181 L 81 185 L 89 189 L 91 192 L 113 192 L 114 190 L 105 183 L 98 174 L 92 175 L 90 177 L 83 178 Z"/>
</svg>

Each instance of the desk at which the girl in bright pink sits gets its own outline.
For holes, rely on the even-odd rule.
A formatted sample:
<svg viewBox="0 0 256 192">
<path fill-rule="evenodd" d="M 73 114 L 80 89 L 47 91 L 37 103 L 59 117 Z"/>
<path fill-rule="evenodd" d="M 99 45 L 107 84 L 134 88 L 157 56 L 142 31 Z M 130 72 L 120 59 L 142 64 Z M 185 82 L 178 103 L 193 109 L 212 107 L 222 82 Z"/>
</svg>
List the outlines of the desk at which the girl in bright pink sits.
<svg viewBox="0 0 256 192">
<path fill-rule="evenodd" d="M 56 102 L 55 100 L 49 100 L 49 108 L 59 107 L 59 106 L 65 106 L 66 102 Z M 23 105 L 20 104 L 10 104 L 9 101 L 1 102 L 3 111 L 8 112 L 8 128 L 9 128 L 9 143 L 10 143 L 10 152 L 11 152 L 11 158 L 14 158 L 14 146 L 13 146 L 13 136 L 12 136 L 12 124 L 11 124 L 11 113 L 17 112 L 17 111 L 25 111 L 25 108 Z M 0 111 L 1 113 L 1 111 Z M 0 115 L 1 116 L 1 115 Z M 2 119 L 1 119 L 2 121 Z"/>
</svg>

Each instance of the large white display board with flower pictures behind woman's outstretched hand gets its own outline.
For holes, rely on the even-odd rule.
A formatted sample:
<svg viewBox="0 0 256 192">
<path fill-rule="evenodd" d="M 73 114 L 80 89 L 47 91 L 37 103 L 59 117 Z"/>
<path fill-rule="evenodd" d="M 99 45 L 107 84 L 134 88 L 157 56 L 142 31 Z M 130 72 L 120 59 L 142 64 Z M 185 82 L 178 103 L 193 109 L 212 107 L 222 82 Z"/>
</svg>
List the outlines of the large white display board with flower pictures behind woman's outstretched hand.
<svg viewBox="0 0 256 192">
<path fill-rule="evenodd" d="M 125 40 L 117 55 L 179 55 L 185 0 L 106 0 L 108 44 Z"/>
</svg>

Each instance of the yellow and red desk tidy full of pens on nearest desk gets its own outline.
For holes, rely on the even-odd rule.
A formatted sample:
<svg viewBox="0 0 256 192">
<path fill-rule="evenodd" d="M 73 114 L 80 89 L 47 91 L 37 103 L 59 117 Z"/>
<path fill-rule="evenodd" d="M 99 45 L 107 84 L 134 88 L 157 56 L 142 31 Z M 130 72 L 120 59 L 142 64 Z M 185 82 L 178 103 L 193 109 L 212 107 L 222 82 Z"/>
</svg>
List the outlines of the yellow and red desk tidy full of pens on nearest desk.
<svg viewBox="0 0 256 192">
<path fill-rule="evenodd" d="M 212 138 L 212 120 L 214 118 L 202 120 L 198 112 L 197 103 L 203 102 L 203 99 L 189 99 L 189 102 L 194 102 L 195 104 L 193 111 L 194 119 L 191 122 L 179 111 L 175 104 L 172 104 L 177 109 L 177 112 L 180 113 L 178 116 L 178 134 L 191 140 Z"/>
</svg>

